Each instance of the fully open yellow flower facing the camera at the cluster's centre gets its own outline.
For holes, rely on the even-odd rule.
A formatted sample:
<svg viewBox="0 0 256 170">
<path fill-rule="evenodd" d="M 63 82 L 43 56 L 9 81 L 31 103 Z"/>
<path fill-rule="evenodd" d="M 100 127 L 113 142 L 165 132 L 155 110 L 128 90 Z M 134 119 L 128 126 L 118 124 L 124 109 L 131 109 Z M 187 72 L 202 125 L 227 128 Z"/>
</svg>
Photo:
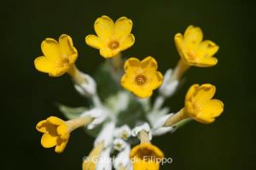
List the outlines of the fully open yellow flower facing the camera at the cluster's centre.
<svg viewBox="0 0 256 170">
<path fill-rule="evenodd" d="M 125 75 L 121 79 L 122 86 L 140 98 L 148 98 L 153 90 L 163 82 L 162 74 L 157 71 L 157 62 L 152 57 L 140 61 L 130 58 L 125 61 Z"/>
</svg>

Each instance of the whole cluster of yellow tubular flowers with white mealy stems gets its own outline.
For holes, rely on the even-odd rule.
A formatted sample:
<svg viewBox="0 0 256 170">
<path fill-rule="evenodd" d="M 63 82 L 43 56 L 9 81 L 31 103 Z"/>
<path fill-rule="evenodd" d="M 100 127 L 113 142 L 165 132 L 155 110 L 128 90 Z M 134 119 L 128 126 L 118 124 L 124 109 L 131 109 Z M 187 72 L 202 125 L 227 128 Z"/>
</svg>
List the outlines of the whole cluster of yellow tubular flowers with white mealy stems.
<svg viewBox="0 0 256 170">
<path fill-rule="evenodd" d="M 59 41 L 46 38 L 41 44 L 43 55 L 35 59 L 36 69 L 48 73 L 49 77 L 67 73 L 74 88 L 91 103 L 88 108 L 59 105 L 68 121 L 49 116 L 38 122 L 38 132 L 44 133 L 41 144 L 44 148 L 55 147 L 55 152 L 61 153 L 73 130 L 85 127 L 96 140 L 83 161 L 83 170 L 158 170 L 164 153 L 151 143 L 154 136 L 172 133 L 190 120 L 214 122 L 224 111 L 224 104 L 212 99 L 215 86 L 208 83 L 192 85 L 185 96 L 184 107 L 176 113 L 162 107 L 164 101 L 176 92 L 190 66 L 217 64 L 218 59 L 213 55 L 217 53 L 218 45 L 203 41 L 201 29 L 189 26 L 184 34 L 175 35 L 180 60 L 174 70 L 167 70 L 163 76 L 152 56 L 142 60 L 131 57 L 124 61 L 121 52 L 135 42 L 130 19 L 120 17 L 114 22 L 103 15 L 95 21 L 94 29 L 96 35 L 86 36 L 85 43 L 98 49 L 106 60 L 99 66 L 100 74 L 95 78 L 79 71 L 75 65 L 78 50 L 70 36 L 63 34 Z M 151 103 L 150 97 L 157 88 L 159 93 Z M 137 144 L 131 148 L 134 143 Z M 114 162 L 112 156 L 116 157 Z"/>
</svg>

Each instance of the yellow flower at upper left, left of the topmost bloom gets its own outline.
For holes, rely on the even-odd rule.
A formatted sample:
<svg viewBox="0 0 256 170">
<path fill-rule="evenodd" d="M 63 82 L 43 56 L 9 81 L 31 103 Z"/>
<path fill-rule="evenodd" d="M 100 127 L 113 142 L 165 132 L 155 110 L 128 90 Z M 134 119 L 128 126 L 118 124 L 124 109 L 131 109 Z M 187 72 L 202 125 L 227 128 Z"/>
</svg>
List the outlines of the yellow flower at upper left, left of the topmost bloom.
<svg viewBox="0 0 256 170">
<path fill-rule="evenodd" d="M 72 38 L 65 34 L 59 37 L 59 42 L 46 38 L 41 44 L 41 49 L 44 56 L 35 59 L 34 64 L 38 71 L 48 73 L 50 77 L 60 77 L 69 71 L 78 58 Z"/>
</svg>

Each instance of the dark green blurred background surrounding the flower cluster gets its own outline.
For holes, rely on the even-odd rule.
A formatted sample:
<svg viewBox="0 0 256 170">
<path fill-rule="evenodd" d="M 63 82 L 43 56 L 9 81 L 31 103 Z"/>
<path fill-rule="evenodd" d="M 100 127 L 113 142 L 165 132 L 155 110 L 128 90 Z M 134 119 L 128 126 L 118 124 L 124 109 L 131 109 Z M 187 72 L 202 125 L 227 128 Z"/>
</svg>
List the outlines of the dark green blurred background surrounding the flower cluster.
<svg viewBox="0 0 256 170">
<path fill-rule="evenodd" d="M 1 2 L 1 169 L 81 169 L 82 157 L 93 139 L 83 129 L 72 134 L 61 155 L 40 145 L 37 122 L 47 116 L 62 116 L 56 102 L 87 105 L 67 75 L 59 78 L 35 70 L 33 60 L 41 55 L 45 37 L 67 33 L 79 50 L 77 65 L 93 73 L 104 59 L 84 43 L 94 33 L 97 17 L 133 20 L 135 45 L 125 57 L 154 56 L 164 72 L 177 64 L 173 37 L 187 26 L 200 26 L 206 39 L 220 48 L 218 65 L 195 68 L 166 105 L 172 111 L 183 107 L 193 83 L 217 87 L 216 98 L 224 101 L 224 114 L 216 122 L 191 122 L 176 133 L 154 139 L 154 144 L 172 157 L 161 169 L 256 169 L 255 130 L 255 13 L 249 0 L 162 1 L 4 1 Z"/>
</svg>

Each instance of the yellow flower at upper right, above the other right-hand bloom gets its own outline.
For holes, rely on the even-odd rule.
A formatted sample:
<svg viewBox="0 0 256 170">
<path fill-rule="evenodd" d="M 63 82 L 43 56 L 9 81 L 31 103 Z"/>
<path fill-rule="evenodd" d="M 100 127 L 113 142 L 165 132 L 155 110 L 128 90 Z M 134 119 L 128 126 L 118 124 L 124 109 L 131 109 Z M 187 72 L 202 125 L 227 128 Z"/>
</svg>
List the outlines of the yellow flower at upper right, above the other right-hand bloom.
<svg viewBox="0 0 256 170">
<path fill-rule="evenodd" d="M 181 33 L 175 35 L 177 51 L 187 65 L 209 67 L 218 63 L 218 59 L 213 57 L 218 51 L 218 45 L 202 39 L 201 28 L 195 26 L 189 26 L 184 35 Z"/>
</svg>

